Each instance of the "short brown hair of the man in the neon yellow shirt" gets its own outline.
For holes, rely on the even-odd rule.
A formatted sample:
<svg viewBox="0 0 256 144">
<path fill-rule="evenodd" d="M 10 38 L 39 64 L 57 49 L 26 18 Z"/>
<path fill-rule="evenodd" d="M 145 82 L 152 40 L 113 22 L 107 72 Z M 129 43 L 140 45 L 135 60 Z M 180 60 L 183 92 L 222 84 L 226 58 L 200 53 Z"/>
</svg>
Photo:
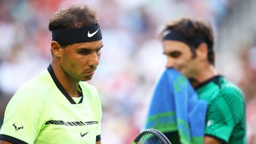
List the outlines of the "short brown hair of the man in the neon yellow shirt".
<svg viewBox="0 0 256 144">
<path fill-rule="evenodd" d="M 49 30 L 80 28 L 97 23 L 99 23 L 97 11 L 84 4 L 70 5 L 67 8 L 59 9 L 59 11 L 50 18 Z M 69 45 L 59 44 L 62 47 Z"/>
</svg>

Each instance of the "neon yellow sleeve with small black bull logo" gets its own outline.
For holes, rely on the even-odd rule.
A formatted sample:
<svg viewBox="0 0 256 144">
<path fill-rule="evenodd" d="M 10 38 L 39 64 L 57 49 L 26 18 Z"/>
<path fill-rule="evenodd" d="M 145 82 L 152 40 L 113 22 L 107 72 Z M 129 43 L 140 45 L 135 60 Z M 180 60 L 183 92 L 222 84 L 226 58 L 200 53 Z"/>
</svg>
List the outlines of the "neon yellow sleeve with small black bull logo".
<svg viewBox="0 0 256 144">
<path fill-rule="evenodd" d="M 34 89 L 17 92 L 5 110 L 0 135 L 34 143 L 45 122 L 45 114 L 41 111 L 44 104 L 40 92 Z"/>
</svg>

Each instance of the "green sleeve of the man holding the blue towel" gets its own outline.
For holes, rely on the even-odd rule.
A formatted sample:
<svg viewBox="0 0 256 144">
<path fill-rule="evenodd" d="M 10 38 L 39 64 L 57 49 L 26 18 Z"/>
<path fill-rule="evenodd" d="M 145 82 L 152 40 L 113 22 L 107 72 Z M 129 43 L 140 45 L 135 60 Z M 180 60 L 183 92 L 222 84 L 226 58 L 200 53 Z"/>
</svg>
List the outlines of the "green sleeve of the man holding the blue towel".
<svg viewBox="0 0 256 144">
<path fill-rule="evenodd" d="M 221 88 L 207 108 L 205 134 L 228 142 L 236 124 L 245 114 L 243 96 L 238 89 Z"/>
</svg>

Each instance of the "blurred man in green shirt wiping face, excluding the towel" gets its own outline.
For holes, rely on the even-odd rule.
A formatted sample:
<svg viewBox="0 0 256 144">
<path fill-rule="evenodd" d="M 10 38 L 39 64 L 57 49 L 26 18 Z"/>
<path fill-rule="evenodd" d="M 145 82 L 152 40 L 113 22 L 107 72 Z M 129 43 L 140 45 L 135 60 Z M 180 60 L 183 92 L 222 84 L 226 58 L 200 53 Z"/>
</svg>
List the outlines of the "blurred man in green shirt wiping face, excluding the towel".
<svg viewBox="0 0 256 144">
<path fill-rule="evenodd" d="M 161 33 L 166 68 L 185 75 L 200 100 L 207 101 L 204 143 L 246 143 L 245 101 L 242 91 L 217 74 L 213 30 L 208 23 L 181 18 Z M 175 132 L 165 132 L 171 139 Z"/>
</svg>

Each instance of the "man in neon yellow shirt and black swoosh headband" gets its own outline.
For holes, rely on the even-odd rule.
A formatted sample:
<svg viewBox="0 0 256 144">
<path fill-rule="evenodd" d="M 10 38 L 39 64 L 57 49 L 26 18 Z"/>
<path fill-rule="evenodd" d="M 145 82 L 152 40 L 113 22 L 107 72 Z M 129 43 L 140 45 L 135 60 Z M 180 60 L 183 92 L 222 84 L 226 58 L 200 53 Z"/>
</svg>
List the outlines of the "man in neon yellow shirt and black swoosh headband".
<svg viewBox="0 0 256 144">
<path fill-rule="evenodd" d="M 87 5 L 60 9 L 49 22 L 52 62 L 12 97 L 0 143 L 101 143 L 101 103 L 87 82 L 103 41 L 97 12 Z"/>
</svg>

